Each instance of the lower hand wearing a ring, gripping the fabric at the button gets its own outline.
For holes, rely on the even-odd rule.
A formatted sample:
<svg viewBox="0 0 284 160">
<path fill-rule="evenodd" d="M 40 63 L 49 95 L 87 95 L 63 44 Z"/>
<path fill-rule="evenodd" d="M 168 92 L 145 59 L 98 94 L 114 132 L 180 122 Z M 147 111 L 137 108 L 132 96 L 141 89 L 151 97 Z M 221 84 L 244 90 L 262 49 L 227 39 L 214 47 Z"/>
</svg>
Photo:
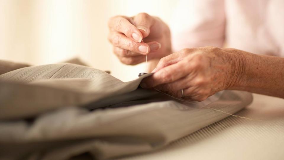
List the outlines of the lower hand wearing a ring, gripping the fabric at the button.
<svg viewBox="0 0 284 160">
<path fill-rule="evenodd" d="M 237 49 L 201 47 L 182 49 L 162 58 L 152 76 L 141 87 L 155 87 L 174 97 L 203 101 L 227 89 L 236 81 L 238 73 Z"/>
</svg>

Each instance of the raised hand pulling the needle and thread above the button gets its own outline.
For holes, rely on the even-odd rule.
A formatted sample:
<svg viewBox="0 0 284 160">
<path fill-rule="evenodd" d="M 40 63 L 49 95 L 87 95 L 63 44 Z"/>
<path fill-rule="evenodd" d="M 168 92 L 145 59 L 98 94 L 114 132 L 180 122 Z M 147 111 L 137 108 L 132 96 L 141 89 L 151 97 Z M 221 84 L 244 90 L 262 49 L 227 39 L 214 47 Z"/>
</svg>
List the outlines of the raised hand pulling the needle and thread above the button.
<svg viewBox="0 0 284 160">
<path fill-rule="evenodd" d="M 160 59 L 172 50 L 169 27 L 158 17 L 146 13 L 112 17 L 109 31 L 114 54 L 128 65 L 144 62 L 145 55 L 148 60 Z"/>
</svg>

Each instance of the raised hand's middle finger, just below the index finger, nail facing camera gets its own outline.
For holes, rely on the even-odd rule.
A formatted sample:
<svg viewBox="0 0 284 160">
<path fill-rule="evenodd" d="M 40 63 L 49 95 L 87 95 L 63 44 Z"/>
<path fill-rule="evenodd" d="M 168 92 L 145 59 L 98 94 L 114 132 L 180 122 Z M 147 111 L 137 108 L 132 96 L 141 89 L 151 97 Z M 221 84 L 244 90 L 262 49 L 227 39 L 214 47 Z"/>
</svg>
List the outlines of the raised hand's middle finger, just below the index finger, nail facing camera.
<svg viewBox="0 0 284 160">
<path fill-rule="evenodd" d="M 148 44 L 144 42 L 137 43 L 126 37 L 124 34 L 118 32 L 110 33 L 109 41 L 116 47 L 137 52 L 143 55 L 147 55 L 150 50 Z"/>
</svg>

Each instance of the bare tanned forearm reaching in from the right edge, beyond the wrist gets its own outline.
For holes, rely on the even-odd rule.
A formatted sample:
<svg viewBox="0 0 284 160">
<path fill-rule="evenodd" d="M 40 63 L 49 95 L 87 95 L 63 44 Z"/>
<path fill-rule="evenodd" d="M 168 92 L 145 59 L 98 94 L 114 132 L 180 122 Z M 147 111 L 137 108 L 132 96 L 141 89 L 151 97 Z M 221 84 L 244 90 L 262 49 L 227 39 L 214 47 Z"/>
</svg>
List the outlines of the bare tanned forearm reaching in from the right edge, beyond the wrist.
<svg viewBox="0 0 284 160">
<path fill-rule="evenodd" d="M 239 50 L 238 50 L 239 51 Z M 237 52 L 238 52 L 237 51 Z M 232 68 L 235 81 L 227 88 L 284 98 L 284 58 L 239 51 Z"/>
</svg>

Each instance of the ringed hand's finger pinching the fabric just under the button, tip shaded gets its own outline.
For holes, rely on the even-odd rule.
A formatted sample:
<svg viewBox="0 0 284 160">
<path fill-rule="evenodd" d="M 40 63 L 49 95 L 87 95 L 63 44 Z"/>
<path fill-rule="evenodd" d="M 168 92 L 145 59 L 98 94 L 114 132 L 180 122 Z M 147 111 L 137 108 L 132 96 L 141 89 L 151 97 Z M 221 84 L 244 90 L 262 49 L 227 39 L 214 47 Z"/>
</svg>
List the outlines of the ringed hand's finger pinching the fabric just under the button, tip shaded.
<svg viewBox="0 0 284 160">
<path fill-rule="evenodd" d="M 155 72 L 152 76 L 143 79 L 142 87 L 155 87 L 159 84 L 165 84 L 180 79 L 188 74 L 186 61 L 180 61 L 173 65 L 169 65 L 165 68 Z"/>
</svg>

